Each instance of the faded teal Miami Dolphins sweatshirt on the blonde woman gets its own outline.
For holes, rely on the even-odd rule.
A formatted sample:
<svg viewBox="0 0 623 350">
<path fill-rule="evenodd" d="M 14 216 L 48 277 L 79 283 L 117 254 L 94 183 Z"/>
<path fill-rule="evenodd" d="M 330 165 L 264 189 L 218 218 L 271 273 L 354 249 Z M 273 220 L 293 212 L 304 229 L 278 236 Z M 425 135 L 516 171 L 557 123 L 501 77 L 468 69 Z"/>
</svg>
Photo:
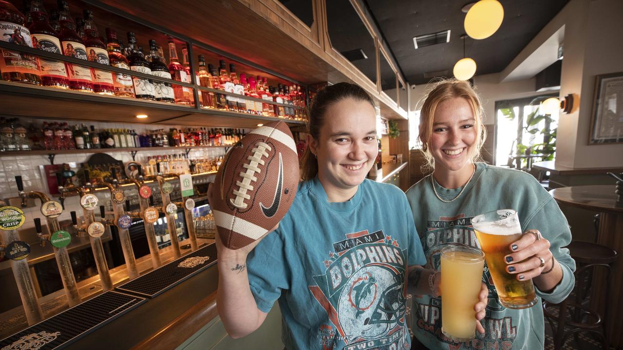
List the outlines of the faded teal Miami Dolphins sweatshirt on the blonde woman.
<svg viewBox="0 0 623 350">
<path fill-rule="evenodd" d="M 407 191 L 416 229 L 426 255 L 426 268 L 440 269 L 440 250 L 445 244 L 458 242 L 480 247 L 474 233 L 472 217 L 497 209 L 514 209 L 522 231 L 540 230 L 551 242 L 549 248 L 563 269 L 563 279 L 549 293 L 535 286 L 538 303 L 531 308 L 511 310 L 502 306 L 487 265 L 483 281 L 489 289 L 487 315 L 480 322 L 485 334 L 465 343 L 454 343 L 441 332 L 441 298 L 414 295 L 412 331 L 429 349 L 543 349 L 545 323 L 541 299 L 559 303 L 571 293 L 576 264 L 566 245 L 571 231 L 553 197 L 530 174 L 513 169 L 497 168 L 477 163 L 475 174 L 465 191 L 454 202 L 439 201 L 432 188 L 430 176 Z M 450 201 L 462 187 L 445 189 L 435 182 L 437 194 Z M 548 265 L 549 266 L 549 265 Z"/>
</svg>

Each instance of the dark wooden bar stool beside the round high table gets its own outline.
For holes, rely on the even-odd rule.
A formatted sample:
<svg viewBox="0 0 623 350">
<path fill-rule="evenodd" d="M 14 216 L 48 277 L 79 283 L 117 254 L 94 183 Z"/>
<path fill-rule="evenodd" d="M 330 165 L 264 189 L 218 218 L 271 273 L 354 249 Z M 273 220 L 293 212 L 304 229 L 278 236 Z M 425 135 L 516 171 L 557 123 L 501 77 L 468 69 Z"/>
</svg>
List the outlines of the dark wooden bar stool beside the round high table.
<svg viewBox="0 0 623 350">
<path fill-rule="evenodd" d="M 609 345 L 606 326 L 604 326 L 603 321 L 604 318 L 599 315 L 599 311 L 583 305 L 583 302 L 587 297 L 591 296 L 592 275 L 597 270 L 604 271 L 607 285 L 611 284 L 610 264 L 616 262 L 617 252 L 604 245 L 576 240 L 572 240 L 567 248 L 569 248 L 571 257 L 576 260 L 577 264 L 575 272 L 576 286 L 574 287 L 575 296 L 569 295 L 559 304 L 543 301 L 543 314 L 548 319 L 554 334 L 554 349 L 562 349 L 564 342 L 571 334 L 577 336 L 579 332 L 589 332 L 599 334 L 599 337 L 602 339 L 602 346 L 604 350 L 607 350 Z M 607 298 L 609 297 L 610 289 L 607 286 L 605 289 L 606 300 L 609 300 Z M 596 295 L 591 297 L 599 298 Z M 553 312 L 554 308 L 558 308 L 558 315 Z M 608 313 L 606 306 L 606 316 Z M 554 328 L 554 321 L 557 323 L 556 328 Z M 566 331 L 565 326 L 571 329 Z"/>
</svg>

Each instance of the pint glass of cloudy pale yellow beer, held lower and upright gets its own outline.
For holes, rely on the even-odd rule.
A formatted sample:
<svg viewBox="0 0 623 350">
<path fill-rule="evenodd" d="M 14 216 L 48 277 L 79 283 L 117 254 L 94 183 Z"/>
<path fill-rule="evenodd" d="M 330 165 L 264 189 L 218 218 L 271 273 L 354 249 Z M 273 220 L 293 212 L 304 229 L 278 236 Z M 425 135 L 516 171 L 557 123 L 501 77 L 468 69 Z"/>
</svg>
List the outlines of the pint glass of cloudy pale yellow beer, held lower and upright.
<svg viewBox="0 0 623 350">
<path fill-rule="evenodd" d="M 441 250 L 441 331 L 453 341 L 472 340 L 485 255 L 466 245 L 451 244 Z"/>
</svg>

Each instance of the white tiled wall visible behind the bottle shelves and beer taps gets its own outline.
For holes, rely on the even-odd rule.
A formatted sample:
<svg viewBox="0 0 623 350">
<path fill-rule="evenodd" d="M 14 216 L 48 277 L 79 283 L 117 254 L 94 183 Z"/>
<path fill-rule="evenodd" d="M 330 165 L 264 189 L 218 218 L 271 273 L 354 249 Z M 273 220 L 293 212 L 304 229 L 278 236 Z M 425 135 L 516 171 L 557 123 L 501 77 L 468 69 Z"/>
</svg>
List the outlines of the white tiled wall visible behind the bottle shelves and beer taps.
<svg viewBox="0 0 623 350">
<path fill-rule="evenodd" d="M 59 122 L 60 120 L 41 120 L 35 118 L 20 118 L 20 123 L 23 125 L 29 125 L 30 123 L 34 123 L 37 127 L 40 127 L 44 121 L 47 122 Z M 66 120 L 63 120 L 66 121 Z M 62 121 L 60 121 L 62 122 Z M 80 124 L 80 121 L 67 121 L 70 126 L 75 124 Z M 144 124 L 120 124 L 120 123 L 100 123 L 100 122 L 83 122 L 85 125 L 95 126 L 95 130 L 100 131 L 102 129 L 130 129 L 136 130 L 137 133 L 149 132 L 150 130 L 158 130 L 164 129 L 169 130 L 169 128 L 189 128 L 192 126 L 182 126 L 182 125 L 144 125 Z M 218 128 L 218 126 L 213 126 L 214 128 Z M 209 128 L 209 127 L 208 127 Z M 53 151 L 52 151 L 53 152 Z M 183 147 L 171 147 L 170 149 L 150 149 L 145 148 L 145 150 L 138 151 L 136 154 L 136 161 L 144 163 L 147 160 L 148 156 L 162 156 L 168 154 L 183 154 Z M 110 152 L 107 152 L 110 156 L 123 163 L 132 161 L 132 156 L 130 152 L 123 151 L 115 151 L 111 149 Z M 225 149 L 224 148 L 196 148 L 191 149 L 188 153 L 189 159 L 212 159 L 217 158 L 219 156 L 224 156 Z M 54 158 L 54 164 L 62 164 L 68 163 L 72 167 L 72 170 L 77 171 L 79 167 L 81 167 L 82 163 L 85 163 L 93 153 L 78 153 L 78 154 L 57 154 Z M 50 198 L 54 198 L 50 195 L 50 191 L 47 184 L 47 179 L 42 178 L 43 176 L 43 166 L 50 164 L 50 161 L 47 155 L 33 155 L 33 156 L 10 156 L 7 152 L 0 153 L 0 199 L 7 199 L 10 197 L 17 197 L 17 184 L 15 182 L 15 176 L 21 175 L 22 181 L 24 182 L 24 191 L 40 191 L 44 192 Z M 78 167 L 78 168 L 77 168 Z M 135 190 L 129 190 L 135 191 Z M 130 193 L 128 193 L 130 194 Z M 110 201 L 110 196 L 105 194 L 104 192 L 97 194 L 100 202 L 102 204 Z M 26 215 L 26 222 L 22 225 L 20 230 L 29 230 L 34 227 L 34 219 L 39 217 L 42 219 L 42 223 L 44 221 L 44 215 L 41 214 L 39 210 L 39 200 L 35 201 L 34 207 L 23 208 L 24 214 Z M 65 199 L 65 210 L 59 216 L 59 221 L 62 220 L 71 220 L 70 212 L 74 210 L 78 212 L 78 217 L 81 216 L 82 207 L 78 202 L 78 197 L 68 197 Z M 46 229 L 44 228 L 44 231 Z M 32 230 L 30 230 L 32 231 Z M 31 235 L 29 236 L 29 240 L 32 241 Z M 26 239 L 26 237 L 22 237 L 22 239 Z"/>
</svg>

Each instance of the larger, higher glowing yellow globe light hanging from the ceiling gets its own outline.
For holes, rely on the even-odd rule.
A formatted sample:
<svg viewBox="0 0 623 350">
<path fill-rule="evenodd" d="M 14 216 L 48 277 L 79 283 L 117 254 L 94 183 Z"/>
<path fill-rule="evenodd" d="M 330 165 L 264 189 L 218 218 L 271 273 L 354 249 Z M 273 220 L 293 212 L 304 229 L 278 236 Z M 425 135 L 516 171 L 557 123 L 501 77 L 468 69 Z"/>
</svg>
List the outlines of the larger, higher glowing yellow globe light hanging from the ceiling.
<svg viewBox="0 0 623 350">
<path fill-rule="evenodd" d="M 465 32 L 473 39 L 493 35 L 504 19 L 504 8 L 498 0 L 480 0 L 465 15 Z"/>
</svg>

